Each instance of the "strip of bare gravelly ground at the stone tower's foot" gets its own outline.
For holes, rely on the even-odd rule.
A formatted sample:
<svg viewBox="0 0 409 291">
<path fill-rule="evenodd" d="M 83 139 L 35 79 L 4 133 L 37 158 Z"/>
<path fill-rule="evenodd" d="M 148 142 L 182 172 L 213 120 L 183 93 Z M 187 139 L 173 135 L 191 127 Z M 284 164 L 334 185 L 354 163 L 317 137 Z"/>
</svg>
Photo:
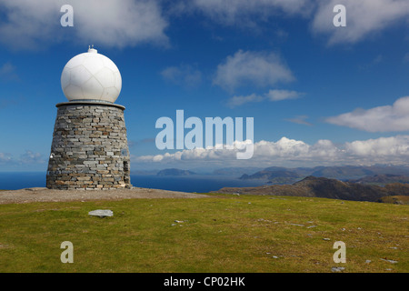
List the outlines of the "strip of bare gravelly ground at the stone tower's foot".
<svg viewBox="0 0 409 291">
<path fill-rule="evenodd" d="M 0 205 L 33 202 L 122 200 L 135 198 L 202 198 L 205 195 L 133 187 L 115 190 L 51 190 L 47 188 L 25 188 L 0 191 Z"/>
</svg>

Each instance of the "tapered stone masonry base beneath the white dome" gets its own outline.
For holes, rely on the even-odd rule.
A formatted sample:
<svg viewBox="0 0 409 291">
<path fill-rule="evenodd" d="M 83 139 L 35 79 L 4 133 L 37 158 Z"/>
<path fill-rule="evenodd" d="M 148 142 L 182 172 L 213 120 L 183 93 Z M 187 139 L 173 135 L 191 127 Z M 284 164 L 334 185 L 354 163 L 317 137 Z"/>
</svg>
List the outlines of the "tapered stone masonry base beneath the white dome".
<svg viewBox="0 0 409 291">
<path fill-rule="evenodd" d="M 124 108 L 101 104 L 57 106 L 47 188 L 131 187 Z"/>
</svg>

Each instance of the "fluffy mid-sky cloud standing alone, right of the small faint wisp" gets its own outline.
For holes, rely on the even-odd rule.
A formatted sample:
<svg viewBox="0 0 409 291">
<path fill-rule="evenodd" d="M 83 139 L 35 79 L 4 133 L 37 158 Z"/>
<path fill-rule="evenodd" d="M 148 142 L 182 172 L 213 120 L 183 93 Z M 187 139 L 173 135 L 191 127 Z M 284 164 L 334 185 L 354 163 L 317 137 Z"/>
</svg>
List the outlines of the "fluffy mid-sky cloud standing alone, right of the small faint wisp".
<svg viewBox="0 0 409 291">
<path fill-rule="evenodd" d="M 241 85 L 263 87 L 293 80 L 294 75 L 278 55 L 239 50 L 217 66 L 213 83 L 232 91 Z"/>
</svg>

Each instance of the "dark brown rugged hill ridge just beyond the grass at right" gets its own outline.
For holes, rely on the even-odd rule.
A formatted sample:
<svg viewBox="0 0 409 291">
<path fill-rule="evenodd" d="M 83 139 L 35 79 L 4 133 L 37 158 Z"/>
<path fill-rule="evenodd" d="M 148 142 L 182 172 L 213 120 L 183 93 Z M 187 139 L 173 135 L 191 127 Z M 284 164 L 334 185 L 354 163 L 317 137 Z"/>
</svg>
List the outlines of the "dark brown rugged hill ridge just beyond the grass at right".
<svg viewBox="0 0 409 291">
<path fill-rule="evenodd" d="M 225 187 L 214 193 L 272 195 L 272 196 L 307 196 L 354 201 L 379 201 L 384 196 L 409 196 L 409 185 L 388 184 L 371 186 L 348 183 L 336 179 L 307 176 L 293 185 L 270 185 L 257 187 Z"/>
</svg>

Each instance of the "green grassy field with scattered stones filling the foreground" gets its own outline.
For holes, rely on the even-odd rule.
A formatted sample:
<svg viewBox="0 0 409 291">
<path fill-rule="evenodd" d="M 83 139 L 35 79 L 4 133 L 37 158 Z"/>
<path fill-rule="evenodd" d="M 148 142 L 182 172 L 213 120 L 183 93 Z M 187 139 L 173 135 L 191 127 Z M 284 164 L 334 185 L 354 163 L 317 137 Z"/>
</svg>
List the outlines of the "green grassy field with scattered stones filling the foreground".
<svg viewBox="0 0 409 291">
<path fill-rule="evenodd" d="M 409 206 L 212 196 L 2 205 L 0 272 L 409 271 Z M 95 209 L 114 216 L 88 216 Z M 73 264 L 60 261 L 64 241 Z M 345 264 L 333 261 L 335 241 Z"/>
</svg>

